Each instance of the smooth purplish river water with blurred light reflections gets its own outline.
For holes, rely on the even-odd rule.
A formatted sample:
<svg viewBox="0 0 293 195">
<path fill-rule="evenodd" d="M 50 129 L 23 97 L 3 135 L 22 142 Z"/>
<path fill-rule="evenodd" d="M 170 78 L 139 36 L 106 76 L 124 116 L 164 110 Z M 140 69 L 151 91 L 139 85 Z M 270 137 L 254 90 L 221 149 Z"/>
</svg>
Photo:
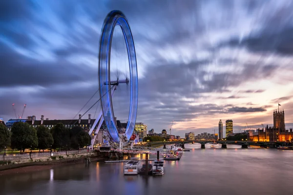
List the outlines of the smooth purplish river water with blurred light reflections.
<svg viewBox="0 0 293 195">
<path fill-rule="evenodd" d="M 0 176 L 0 194 L 285 195 L 293 192 L 293 151 L 198 147 L 189 145 L 196 149 L 184 152 L 179 161 L 165 161 L 164 176 L 124 176 L 125 163 L 68 164 L 51 170 Z"/>
</svg>

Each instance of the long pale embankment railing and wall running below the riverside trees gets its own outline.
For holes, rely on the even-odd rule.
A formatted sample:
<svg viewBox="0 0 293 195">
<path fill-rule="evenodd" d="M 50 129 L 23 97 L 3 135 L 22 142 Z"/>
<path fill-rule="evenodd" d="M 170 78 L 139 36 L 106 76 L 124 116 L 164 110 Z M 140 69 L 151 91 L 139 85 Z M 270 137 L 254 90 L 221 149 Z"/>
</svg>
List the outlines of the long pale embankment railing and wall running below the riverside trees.
<svg viewBox="0 0 293 195">
<path fill-rule="evenodd" d="M 49 156 L 63 156 L 63 155 L 77 155 L 77 154 L 86 154 L 91 153 L 94 150 L 74 150 L 74 151 L 62 151 L 62 152 L 45 152 L 45 153 L 27 153 L 27 154 L 15 154 L 15 155 L 1 155 L 0 160 L 5 161 L 16 161 L 40 157 L 49 157 Z"/>
</svg>

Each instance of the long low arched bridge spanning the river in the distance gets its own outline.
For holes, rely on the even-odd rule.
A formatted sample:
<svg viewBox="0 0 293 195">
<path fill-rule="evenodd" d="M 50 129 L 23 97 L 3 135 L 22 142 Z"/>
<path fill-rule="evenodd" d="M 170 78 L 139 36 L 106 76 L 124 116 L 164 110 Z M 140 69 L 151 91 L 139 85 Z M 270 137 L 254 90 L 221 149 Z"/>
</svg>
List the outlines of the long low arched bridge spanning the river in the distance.
<svg viewBox="0 0 293 195">
<path fill-rule="evenodd" d="M 205 149 L 207 143 L 218 143 L 222 144 L 221 148 L 227 148 L 227 144 L 241 145 L 241 148 L 248 148 L 248 146 L 260 146 L 262 148 L 276 148 L 277 146 L 292 146 L 293 143 L 290 142 L 279 142 L 279 141 L 227 141 L 227 140 L 216 140 L 216 141 L 204 141 L 204 140 L 194 140 L 194 141 L 161 141 L 161 142 L 149 142 L 148 146 L 152 145 L 166 145 L 166 144 L 182 144 L 184 148 L 185 143 L 199 143 L 201 148 Z"/>
</svg>

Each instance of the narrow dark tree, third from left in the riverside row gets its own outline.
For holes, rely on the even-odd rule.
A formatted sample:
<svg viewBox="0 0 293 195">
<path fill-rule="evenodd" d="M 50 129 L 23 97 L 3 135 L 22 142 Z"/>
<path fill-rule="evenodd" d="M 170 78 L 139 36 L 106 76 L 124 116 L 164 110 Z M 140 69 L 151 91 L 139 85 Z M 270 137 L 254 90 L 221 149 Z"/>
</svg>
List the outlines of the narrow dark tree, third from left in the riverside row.
<svg viewBox="0 0 293 195">
<path fill-rule="evenodd" d="M 50 133 L 50 130 L 43 125 L 37 127 L 37 136 L 39 140 L 38 147 L 40 150 L 43 150 L 43 152 L 44 149 L 50 148 L 51 145 L 53 145 L 54 143 L 53 136 Z"/>
</svg>

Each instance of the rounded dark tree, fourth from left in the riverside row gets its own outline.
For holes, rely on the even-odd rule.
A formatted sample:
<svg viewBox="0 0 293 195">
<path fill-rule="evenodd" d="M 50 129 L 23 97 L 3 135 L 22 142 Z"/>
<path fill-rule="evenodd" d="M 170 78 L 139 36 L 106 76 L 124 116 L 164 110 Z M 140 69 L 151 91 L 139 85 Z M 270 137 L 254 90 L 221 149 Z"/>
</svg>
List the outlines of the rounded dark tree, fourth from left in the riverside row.
<svg viewBox="0 0 293 195">
<path fill-rule="evenodd" d="M 65 128 L 62 123 L 57 123 L 51 129 L 51 134 L 54 140 L 52 145 L 54 149 L 62 148 L 70 144 L 69 129 Z"/>
</svg>

